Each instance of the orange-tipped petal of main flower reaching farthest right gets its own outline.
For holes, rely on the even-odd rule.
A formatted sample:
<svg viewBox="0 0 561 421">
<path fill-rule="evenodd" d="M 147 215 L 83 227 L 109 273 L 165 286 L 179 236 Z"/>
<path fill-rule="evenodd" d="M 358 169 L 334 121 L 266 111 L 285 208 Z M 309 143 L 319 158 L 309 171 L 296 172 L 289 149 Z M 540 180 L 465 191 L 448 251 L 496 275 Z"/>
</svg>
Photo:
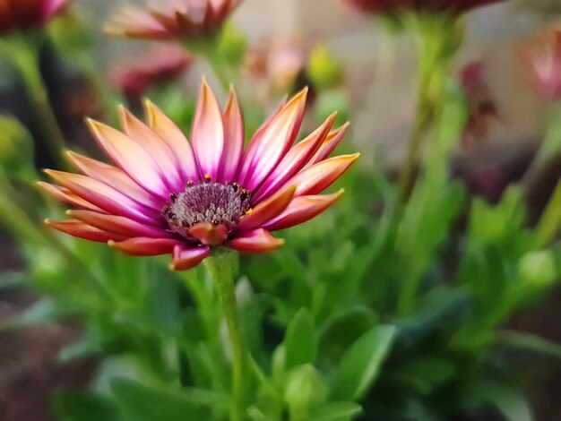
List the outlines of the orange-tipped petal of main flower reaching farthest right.
<svg viewBox="0 0 561 421">
<path fill-rule="evenodd" d="M 297 186 L 297 196 L 322 193 L 327 187 L 332 185 L 359 156 L 359 153 L 353 153 L 351 155 L 341 155 L 339 157 L 325 159 L 310 168 L 300 171 L 289 180 L 287 185 Z"/>
</svg>

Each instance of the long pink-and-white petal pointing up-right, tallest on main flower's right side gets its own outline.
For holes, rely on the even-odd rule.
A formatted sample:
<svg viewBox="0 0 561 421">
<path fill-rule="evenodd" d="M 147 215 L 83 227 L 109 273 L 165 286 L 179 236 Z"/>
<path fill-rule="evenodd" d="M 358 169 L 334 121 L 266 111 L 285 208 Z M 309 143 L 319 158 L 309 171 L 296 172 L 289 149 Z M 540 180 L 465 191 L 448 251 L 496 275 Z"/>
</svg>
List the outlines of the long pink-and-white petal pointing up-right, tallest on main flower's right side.
<svg viewBox="0 0 561 421">
<path fill-rule="evenodd" d="M 307 89 L 280 110 L 263 131 L 257 131 L 247 147 L 238 181 L 248 190 L 255 190 L 296 140 L 306 106 Z"/>
</svg>

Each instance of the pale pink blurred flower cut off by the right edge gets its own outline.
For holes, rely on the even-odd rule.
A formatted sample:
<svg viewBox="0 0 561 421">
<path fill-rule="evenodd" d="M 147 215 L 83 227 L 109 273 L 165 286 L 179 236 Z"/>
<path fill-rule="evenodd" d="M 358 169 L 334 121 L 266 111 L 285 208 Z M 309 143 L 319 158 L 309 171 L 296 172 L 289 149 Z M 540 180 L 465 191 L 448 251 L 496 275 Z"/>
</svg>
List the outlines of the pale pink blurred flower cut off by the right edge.
<svg viewBox="0 0 561 421">
<path fill-rule="evenodd" d="M 548 99 L 561 99 L 561 27 L 543 30 L 518 55 L 532 86 Z"/>
</svg>

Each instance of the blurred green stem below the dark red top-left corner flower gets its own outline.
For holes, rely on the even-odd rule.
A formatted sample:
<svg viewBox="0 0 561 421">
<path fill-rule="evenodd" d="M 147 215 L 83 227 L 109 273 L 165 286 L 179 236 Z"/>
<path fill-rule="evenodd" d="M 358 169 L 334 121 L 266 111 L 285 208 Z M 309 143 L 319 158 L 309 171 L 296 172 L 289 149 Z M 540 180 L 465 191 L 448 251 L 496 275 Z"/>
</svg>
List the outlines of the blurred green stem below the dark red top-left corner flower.
<svg viewBox="0 0 561 421">
<path fill-rule="evenodd" d="M 52 158 L 61 168 L 64 168 L 65 162 L 60 157 L 61 151 L 66 147 L 65 137 L 56 122 L 56 116 L 48 101 L 47 90 L 39 72 L 39 50 L 35 45 L 30 45 L 30 42 L 23 40 L 9 51 L 13 64 L 18 67 L 22 75 L 41 129 L 47 136 Z"/>
</svg>

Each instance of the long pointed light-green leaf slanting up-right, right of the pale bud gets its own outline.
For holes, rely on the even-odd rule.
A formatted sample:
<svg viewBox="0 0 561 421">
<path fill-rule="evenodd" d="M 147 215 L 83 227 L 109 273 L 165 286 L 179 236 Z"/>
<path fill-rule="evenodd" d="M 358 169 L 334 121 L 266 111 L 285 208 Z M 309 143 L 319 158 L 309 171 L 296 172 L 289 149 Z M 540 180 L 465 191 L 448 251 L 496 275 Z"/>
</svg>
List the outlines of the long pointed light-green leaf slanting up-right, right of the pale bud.
<svg viewBox="0 0 561 421">
<path fill-rule="evenodd" d="M 395 332 L 395 326 L 380 325 L 352 344 L 332 374 L 334 399 L 358 400 L 366 393 L 391 348 Z"/>
</svg>

